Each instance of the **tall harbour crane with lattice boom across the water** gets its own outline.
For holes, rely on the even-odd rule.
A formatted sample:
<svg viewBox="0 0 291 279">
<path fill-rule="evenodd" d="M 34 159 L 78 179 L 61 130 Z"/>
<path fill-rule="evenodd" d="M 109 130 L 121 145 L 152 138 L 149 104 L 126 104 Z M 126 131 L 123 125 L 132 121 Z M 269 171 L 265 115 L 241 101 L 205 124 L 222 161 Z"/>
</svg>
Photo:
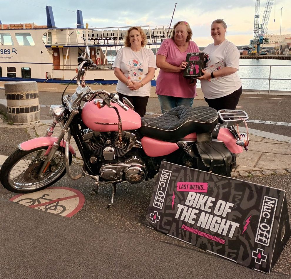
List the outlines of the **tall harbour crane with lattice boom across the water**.
<svg viewBox="0 0 291 279">
<path fill-rule="evenodd" d="M 250 48 L 252 49 L 252 54 L 255 55 L 261 53 L 261 45 L 264 43 L 269 43 L 269 38 L 264 38 L 267 32 L 267 26 L 271 14 L 271 9 L 274 0 L 267 0 L 263 18 L 260 22 L 260 0 L 256 0 L 255 4 L 255 21 L 254 21 L 254 38 L 250 40 Z"/>
</svg>

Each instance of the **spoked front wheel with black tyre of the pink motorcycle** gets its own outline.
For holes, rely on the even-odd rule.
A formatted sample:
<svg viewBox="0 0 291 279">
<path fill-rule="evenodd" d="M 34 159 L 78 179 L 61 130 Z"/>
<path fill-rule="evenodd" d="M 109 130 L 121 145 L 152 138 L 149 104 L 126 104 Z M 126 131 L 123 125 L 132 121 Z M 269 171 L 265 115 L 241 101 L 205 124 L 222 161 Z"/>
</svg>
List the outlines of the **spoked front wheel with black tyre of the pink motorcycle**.
<svg viewBox="0 0 291 279">
<path fill-rule="evenodd" d="M 51 163 L 39 177 L 48 146 L 38 147 L 29 151 L 16 150 L 3 163 L 0 170 L 0 181 L 9 191 L 30 193 L 44 189 L 55 183 L 66 173 L 64 149 L 60 147 L 53 156 Z M 69 153 L 69 162 L 72 154 Z"/>
</svg>

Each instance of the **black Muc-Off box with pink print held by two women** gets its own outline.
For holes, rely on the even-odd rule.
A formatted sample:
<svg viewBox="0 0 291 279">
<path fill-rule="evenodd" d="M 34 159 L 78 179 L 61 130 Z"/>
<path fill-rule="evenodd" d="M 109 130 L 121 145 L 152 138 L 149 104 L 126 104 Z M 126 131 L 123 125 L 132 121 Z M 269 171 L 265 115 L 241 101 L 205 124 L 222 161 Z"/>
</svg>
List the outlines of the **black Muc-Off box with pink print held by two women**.
<svg viewBox="0 0 291 279">
<path fill-rule="evenodd" d="M 187 67 L 184 70 L 184 78 L 199 78 L 201 71 L 206 67 L 208 56 L 205 52 L 190 52 L 187 53 Z"/>
</svg>

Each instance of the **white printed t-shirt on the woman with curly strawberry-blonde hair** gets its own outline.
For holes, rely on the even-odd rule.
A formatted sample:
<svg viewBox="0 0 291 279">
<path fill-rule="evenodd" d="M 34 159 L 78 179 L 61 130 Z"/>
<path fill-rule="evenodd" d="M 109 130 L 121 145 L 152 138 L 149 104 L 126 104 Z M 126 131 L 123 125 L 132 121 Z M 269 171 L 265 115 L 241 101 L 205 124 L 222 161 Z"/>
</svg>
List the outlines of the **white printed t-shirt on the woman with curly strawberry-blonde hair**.
<svg viewBox="0 0 291 279">
<path fill-rule="evenodd" d="M 141 48 L 140 51 L 133 51 L 130 47 L 124 47 L 117 52 L 112 67 L 121 69 L 130 80 L 141 81 L 148 74 L 148 67 L 156 69 L 157 65 L 151 49 Z M 116 91 L 128 96 L 150 96 L 150 82 L 132 91 L 125 83 L 118 80 Z"/>
</svg>

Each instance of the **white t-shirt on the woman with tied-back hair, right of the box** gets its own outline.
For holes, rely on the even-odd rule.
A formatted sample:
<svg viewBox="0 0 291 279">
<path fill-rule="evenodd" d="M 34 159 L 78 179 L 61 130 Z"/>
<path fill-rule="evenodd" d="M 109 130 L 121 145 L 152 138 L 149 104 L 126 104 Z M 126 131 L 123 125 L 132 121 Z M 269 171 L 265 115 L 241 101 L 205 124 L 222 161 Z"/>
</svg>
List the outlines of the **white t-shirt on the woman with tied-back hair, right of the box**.
<svg viewBox="0 0 291 279">
<path fill-rule="evenodd" d="M 240 69 L 240 52 L 235 44 L 228 40 L 215 46 L 214 43 L 204 48 L 203 52 L 209 55 L 206 67 L 223 61 L 226 67 Z M 238 73 L 225 75 L 215 80 L 201 80 L 201 89 L 205 98 L 216 99 L 227 96 L 242 86 Z"/>
</svg>

